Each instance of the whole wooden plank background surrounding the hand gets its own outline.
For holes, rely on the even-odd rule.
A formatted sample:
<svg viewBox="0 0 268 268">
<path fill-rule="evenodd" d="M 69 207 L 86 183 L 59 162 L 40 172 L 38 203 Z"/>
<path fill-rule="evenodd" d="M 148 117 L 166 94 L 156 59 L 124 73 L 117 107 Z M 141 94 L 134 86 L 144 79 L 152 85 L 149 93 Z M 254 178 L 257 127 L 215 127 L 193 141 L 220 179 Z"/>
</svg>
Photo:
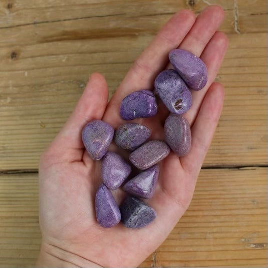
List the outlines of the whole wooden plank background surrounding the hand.
<svg viewBox="0 0 268 268">
<path fill-rule="evenodd" d="M 0 266 L 33 266 L 40 246 L 38 160 L 90 73 L 116 90 L 181 8 L 226 11 L 229 49 L 216 78 L 222 117 L 194 198 L 142 267 L 267 267 L 265 0 L 0 1 Z"/>
</svg>

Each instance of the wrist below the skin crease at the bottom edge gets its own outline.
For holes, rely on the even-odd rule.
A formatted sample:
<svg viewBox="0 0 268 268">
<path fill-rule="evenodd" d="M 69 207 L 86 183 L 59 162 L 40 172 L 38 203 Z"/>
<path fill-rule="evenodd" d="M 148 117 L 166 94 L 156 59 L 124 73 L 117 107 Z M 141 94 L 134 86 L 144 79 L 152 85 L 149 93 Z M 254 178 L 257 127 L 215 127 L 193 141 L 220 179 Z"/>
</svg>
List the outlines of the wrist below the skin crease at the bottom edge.
<svg viewBox="0 0 268 268">
<path fill-rule="evenodd" d="M 36 267 L 100 268 L 102 266 L 92 261 L 89 261 L 86 258 L 83 258 L 69 251 L 66 251 L 60 247 L 42 242 L 36 262 Z"/>
</svg>

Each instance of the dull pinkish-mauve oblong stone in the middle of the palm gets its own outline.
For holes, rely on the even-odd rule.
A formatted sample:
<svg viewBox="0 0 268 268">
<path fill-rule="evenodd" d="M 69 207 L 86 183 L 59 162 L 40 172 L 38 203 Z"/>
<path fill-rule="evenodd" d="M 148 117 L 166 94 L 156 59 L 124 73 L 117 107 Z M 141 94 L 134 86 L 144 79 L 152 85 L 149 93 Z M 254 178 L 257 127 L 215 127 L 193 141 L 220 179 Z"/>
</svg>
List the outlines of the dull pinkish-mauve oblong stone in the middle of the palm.
<svg viewBox="0 0 268 268">
<path fill-rule="evenodd" d="M 137 168 L 144 170 L 163 160 L 169 152 L 170 149 L 165 142 L 153 140 L 146 142 L 132 152 L 129 160 Z"/>
</svg>

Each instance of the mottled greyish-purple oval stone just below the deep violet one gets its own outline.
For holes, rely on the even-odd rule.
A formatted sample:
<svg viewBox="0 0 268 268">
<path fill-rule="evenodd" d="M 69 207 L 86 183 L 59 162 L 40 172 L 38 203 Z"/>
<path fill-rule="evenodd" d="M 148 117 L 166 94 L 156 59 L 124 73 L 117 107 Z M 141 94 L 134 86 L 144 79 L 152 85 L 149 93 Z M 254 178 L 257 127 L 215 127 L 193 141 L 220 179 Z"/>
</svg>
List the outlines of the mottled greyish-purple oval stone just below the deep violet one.
<svg viewBox="0 0 268 268">
<path fill-rule="evenodd" d="M 135 150 L 151 136 L 149 128 L 136 123 L 125 123 L 115 132 L 115 143 L 119 148 Z"/>
</svg>

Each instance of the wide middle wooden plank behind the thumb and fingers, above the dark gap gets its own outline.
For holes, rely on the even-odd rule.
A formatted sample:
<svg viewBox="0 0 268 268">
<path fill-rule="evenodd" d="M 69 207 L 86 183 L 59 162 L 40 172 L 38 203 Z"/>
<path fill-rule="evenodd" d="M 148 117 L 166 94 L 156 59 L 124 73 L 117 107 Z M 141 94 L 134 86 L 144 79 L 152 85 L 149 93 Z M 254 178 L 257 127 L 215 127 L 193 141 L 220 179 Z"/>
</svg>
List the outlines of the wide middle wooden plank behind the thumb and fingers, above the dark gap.
<svg viewBox="0 0 268 268">
<path fill-rule="evenodd" d="M 31 32 L 24 35 L 30 38 Z M 39 155 L 68 118 L 88 74 L 104 73 L 112 94 L 151 38 L 22 45 L 15 60 L 9 58 L 10 48 L 0 48 L 0 170 L 36 169 Z M 229 38 L 216 79 L 226 87 L 225 107 L 204 165 L 265 165 L 267 35 Z"/>
</svg>

